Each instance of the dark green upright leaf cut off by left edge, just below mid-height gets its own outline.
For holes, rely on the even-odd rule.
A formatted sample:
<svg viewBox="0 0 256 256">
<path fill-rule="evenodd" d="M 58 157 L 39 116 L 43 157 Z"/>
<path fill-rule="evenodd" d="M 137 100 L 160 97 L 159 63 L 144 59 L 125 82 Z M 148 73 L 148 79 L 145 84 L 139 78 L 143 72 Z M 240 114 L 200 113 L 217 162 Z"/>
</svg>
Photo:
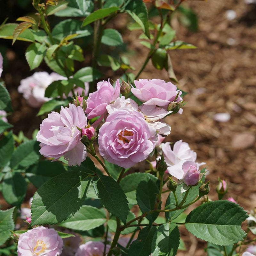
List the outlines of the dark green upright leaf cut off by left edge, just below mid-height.
<svg viewBox="0 0 256 256">
<path fill-rule="evenodd" d="M 0 140 L 0 167 L 4 167 L 11 159 L 14 150 L 14 139 L 12 132 L 9 132 L 6 137 Z"/>
</svg>

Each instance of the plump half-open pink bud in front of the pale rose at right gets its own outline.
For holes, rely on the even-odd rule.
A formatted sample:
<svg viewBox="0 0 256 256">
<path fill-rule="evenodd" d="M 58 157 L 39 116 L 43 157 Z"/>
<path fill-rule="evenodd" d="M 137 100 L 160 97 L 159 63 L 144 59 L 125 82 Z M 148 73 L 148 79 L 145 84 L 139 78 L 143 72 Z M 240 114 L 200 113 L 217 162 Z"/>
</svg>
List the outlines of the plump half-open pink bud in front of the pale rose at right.
<svg viewBox="0 0 256 256">
<path fill-rule="evenodd" d="M 199 181 L 200 171 L 197 169 L 196 163 L 192 161 L 186 161 L 182 164 L 182 170 L 184 172 L 183 181 L 184 183 L 189 186 L 196 185 Z"/>
</svg>

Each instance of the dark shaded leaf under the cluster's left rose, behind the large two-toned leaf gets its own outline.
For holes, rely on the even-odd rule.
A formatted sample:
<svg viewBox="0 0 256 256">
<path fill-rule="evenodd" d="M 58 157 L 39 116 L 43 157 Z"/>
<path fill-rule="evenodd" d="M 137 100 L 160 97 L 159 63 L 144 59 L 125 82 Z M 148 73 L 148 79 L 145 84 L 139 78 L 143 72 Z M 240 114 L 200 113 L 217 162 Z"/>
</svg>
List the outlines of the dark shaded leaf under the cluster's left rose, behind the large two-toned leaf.
<svg viewBox="0 0 256 256">
<path fill-rule="evenodd" d="M 26 170 L 26 176 L 36 188 L 40 188 L 44 182 L 63 172 L 66 170 L 60 162 L 41 161 L 30 166 Z"/>
</svg>

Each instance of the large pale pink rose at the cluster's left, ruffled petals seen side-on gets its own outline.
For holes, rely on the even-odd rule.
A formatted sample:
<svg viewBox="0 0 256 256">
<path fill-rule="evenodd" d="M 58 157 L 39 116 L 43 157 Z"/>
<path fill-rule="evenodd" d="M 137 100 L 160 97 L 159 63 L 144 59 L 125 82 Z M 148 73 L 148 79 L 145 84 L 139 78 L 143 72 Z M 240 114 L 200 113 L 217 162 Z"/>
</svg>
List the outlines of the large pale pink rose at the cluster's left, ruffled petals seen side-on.
<svg viewBox="0 0 256 256">
<path fill-rule="evenodd" d="M 68 165 L 80 165 L 87 152 L 81 140 L 81 132 L 77 129 L 87 125 L 84 110 L 69 104 L 69 108 L 61 107 L 60 113 L 52 111 L 40 125 L 37 141 L 40 141 L 40 153 L 45 157 L 61 156 L 68 160 Z"/>
</svg>

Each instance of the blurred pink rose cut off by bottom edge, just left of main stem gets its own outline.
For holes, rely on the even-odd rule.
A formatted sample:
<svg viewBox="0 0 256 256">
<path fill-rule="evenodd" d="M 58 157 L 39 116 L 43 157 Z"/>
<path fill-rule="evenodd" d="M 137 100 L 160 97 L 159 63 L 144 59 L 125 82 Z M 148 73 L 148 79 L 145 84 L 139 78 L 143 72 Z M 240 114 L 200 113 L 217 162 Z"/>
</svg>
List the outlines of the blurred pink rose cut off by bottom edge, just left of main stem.
<svg viewBox="0 0 256 256">
<path fill-rule="evenodd" d="M 103 256 L 105 245 L 101 242 L 89 241 L 81 244 L 76 251 L 75 256 Z M 106 245 L 106 253 L 108 253 L 110 245 Z"/>
</svg>

